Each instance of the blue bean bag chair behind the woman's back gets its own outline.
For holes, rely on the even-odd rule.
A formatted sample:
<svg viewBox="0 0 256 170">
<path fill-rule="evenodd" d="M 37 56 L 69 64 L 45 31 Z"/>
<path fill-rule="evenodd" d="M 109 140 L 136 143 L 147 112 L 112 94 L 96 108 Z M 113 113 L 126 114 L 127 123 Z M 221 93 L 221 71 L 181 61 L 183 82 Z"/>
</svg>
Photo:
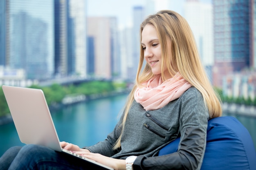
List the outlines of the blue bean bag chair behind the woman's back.
<svg viewBox="0 0 256 170">
<path fill-rule="evenodd" d="M 177 152 L 180 138 L 159 151 Z M 256 170 L 256 151 L 248 130 L 231 116 L 208 121 L 207 145 L 201 170 Z"/>
</svg>

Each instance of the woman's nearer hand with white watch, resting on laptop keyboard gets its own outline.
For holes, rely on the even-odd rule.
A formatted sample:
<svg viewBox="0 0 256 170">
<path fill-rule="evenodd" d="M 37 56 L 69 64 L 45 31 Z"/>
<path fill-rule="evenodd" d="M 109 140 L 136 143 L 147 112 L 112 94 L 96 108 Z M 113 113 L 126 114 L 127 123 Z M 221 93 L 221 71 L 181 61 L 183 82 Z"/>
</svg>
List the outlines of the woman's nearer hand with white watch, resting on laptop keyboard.
<svg viewBox="0 0 256 170">
<path fill-rule="evenodd" d="M 123 159 L 114 159 L 110 157 L 103 156 L 99 153 L 91 152 L 76 152 L 76 154 L 92 159 L 96 162 L 102 163 L 103 165 L 114 168 L 115 170 L 126 170 L 126 163 Z"/>
</svg>

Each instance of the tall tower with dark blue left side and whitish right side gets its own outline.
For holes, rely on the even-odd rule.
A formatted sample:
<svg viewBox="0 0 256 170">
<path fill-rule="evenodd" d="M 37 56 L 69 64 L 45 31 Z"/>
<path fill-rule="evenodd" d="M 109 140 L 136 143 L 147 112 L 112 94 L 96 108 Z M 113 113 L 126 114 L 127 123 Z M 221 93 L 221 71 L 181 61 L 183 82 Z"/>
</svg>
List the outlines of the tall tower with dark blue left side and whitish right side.
<svg viewBox="0 0 256 170">
<path fill-rule="evenodd" d="M 54 13 L 54 73 L 86 77 L 86 0 L 55 0 Z"/>
</svg>

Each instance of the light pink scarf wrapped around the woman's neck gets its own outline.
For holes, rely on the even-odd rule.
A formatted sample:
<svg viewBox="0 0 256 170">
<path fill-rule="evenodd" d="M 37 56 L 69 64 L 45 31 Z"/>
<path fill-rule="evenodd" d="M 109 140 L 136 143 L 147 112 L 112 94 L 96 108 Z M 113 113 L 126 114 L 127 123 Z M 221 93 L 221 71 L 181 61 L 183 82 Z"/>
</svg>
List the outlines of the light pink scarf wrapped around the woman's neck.
<svg viewBox="0 0 256 170">
<path fill-rule="evenodd" d="M 134 98 L 145 110 L 156 110 L 164 107 L 172 100 L 179 98 L 184 91 L 192 86 L 180 73 L 165 82 L 162 82 L 161 74 L 159 74 L 142 85 L 146 87 L 137 88 Z"/>
</svg>

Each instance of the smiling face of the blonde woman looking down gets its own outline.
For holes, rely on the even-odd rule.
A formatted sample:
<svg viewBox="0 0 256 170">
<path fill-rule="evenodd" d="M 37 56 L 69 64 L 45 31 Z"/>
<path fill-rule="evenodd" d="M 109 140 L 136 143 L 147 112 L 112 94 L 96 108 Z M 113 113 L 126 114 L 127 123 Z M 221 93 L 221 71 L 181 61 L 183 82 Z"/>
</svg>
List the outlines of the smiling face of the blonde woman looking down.
<svg viewBox="0 0 256 170">
<path fill-rule="evenodd" d="M 162 51 L 155 26 L 146 24 L 141 33 L 141 45 L 144 50 L 144 59 L 151 67 L 154 75 L 161 74 Z M 164 72 L 167 72 L 164 66 Z M 166 78 L 170 78 L 165 74 Z"/>
</svg>

